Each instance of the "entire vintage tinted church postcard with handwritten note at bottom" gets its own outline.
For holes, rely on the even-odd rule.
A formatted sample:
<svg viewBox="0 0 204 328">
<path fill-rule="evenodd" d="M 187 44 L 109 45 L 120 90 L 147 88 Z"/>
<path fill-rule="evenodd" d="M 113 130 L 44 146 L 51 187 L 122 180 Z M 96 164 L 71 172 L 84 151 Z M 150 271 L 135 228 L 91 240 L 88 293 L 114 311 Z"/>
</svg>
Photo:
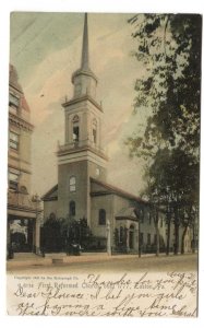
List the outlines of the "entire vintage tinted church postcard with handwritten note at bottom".
<svg viewBox="0 0 204 328">
<path fill-rule="evenodd" d="M 202 15 L 10 15 L 9 316 L 196 318 Z"/>
</svg>

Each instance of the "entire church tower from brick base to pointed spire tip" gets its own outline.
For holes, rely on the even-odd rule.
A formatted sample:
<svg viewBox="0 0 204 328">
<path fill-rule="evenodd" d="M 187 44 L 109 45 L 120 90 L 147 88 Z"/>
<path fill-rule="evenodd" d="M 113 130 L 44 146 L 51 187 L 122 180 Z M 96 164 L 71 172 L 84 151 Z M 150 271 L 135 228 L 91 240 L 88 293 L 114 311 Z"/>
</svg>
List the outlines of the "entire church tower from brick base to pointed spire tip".
<svg viewBox="0 0 204 328">
<path fill-rule="evenodd" d="M 106 181 L 101 149 L 103 108 L 96 101 L 98 80 L 89 67 L 87 14 L 81 68 L 72 74 L 73 97 L 63 103 L 64 144 L 58 150 L 58 218 L 91 220 L 91 177 Z"/>
</svg>

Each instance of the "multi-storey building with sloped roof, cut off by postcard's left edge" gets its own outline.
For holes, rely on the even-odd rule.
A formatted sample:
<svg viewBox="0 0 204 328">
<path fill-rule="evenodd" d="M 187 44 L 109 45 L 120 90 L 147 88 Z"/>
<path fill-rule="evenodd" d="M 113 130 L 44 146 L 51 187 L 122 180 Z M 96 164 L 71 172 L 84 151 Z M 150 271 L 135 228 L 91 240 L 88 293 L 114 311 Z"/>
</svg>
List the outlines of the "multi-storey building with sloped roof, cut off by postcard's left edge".
<svg viewBox="0 0 204 328">
<path fill-rule="evenodd" d="M 39 250 L 38 199 L 31 197 L 33 129 L 29 106 L 16 69 L 10 65 L 8 245 L 12 244 L 14 251 Z M 24 242 L 20 235 L 24 235 Z"/>
</svg>

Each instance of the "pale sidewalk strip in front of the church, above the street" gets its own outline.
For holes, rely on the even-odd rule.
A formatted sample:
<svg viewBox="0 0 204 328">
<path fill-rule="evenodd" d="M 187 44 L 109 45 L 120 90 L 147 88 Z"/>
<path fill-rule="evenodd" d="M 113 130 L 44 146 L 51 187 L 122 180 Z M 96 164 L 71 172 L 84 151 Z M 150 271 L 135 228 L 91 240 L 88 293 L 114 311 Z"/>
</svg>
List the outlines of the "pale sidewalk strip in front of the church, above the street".
<svg viewBox="0 0 204 328">
<path fill-rule="evenodd" d="M 107 253 L 82 253 L 81 256 L 67 256 L 64 253 L 46 254 L 45 257 L 32 253 L 17 253 L 7 261 L 7 270 L 28 266 L 51 266 L 76 262 L 98 262 L 113 259 L 135 258 L 136 254 L 108 255 Z"/>
</svg>

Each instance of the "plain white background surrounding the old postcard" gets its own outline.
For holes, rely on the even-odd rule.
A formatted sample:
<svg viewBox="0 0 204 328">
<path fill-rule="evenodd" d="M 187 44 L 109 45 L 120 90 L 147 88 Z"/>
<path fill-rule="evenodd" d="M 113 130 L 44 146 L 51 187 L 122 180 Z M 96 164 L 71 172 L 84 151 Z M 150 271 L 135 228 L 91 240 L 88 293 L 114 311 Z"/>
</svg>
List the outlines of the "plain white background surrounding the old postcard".
<svg viewBox="0 0 204 328">
<path fill-rule="evenodd" d="M 0 296 L 0 321 L 4 327 L 36 327 L 36 325 L 43 326 L 49 325 L 49 327 L 68 327 L 71 325 L 81 325 L 91 327 L 103 327 L 107 324 L 117 325 L 117 327 L 123 327 L 125 324 L 129 327 L 156 327 L 156 325 L 165 325 L 165 327 L 172 327 L 172 325 L 179 325 L 182 327 L 201 327 L 203 324 L 204 312 L 204 281 L 200 280 L 200 317 L 197 319 L 157 319 L 157 318 L 71 318 L 71 317 L 9 317 L 7 316 L 5 309 L 5 224 L 7 224 L 7 95 L 8 95 L 8 67 L 9 67 L 9 16 L 11 11 L 52 11 L 52 12 L 183 12 L 183 13 L 202 13 L 204 12 L 203 1 L 160 1 L 160 0 L 120 0 L 120 1 L 93 1 L 93 0 L 9 0 L 2 3 L 0 11 L 0 140 L 1 140 L 1 184 L 0 184 L 0 199 L 1 199 L 1 220 L 0 220 L 0 261 L 1 261 L 1 296 Z M 204 52 L 204 51 L 203 51 Z M 203 56 L 202 56 L 203 57 Z M 202 58 L 202 62 L 203 62 Z M 203 71 L 203 65 L 202 65 Z M 203 126 L 203 115 L 202 115 Z M 202 131 L 202 143 L 201 143 L 201 195 L 203 196 L 203 131 Z M 203 207 L 204 202 L 201 197 L 201 225 L 200 225 L 200 277 L 204 274 L 204 237 L 203 237 Z M 163 320 L 160 323 L 160 320 Z M 175 321 L 176 320 L 176 321 Z"/>
</svg>

